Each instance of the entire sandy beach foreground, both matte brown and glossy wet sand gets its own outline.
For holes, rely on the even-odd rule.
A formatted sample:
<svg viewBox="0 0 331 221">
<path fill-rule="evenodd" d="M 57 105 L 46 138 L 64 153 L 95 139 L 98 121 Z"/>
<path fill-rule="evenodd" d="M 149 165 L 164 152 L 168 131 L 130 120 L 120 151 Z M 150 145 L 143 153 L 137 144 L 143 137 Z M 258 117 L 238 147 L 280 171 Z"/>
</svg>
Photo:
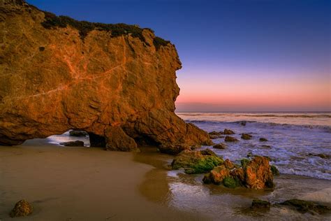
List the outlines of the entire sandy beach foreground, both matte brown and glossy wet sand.
<svg viewBox="0 0 331 221">
<path fill-rule="evenodd" d="M 249 210 L 252 199 L 321 201 L 331 206 L 331 181 L 281 175 L 270 190 L 203 185 L 203 175 L 171 171 L 156 148 L 108 152 L 64 148 L 45 139 L 0 148 L 0 220 L 331 220 L 289 208 Z M 9 218 L 20 199 L 35 211 Z"/>
</svg>

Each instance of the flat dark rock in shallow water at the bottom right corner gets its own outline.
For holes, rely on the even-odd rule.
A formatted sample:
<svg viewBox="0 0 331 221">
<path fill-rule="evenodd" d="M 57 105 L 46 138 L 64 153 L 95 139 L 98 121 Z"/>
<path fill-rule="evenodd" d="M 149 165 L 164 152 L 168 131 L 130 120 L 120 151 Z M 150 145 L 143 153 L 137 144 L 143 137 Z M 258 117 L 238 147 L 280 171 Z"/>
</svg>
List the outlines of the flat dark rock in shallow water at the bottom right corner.
<svg viewBox="0 0 331 221">
<path fill-rule="evenodd" d="M 310 212 L 313 214 L 314 213 L 323 214 L 323 213 L 331 212 L 330 206 L 325 206 L 317 202 L 305 201 L 301 199 L 290 199 L 284 201 L 279 205 L 290 206 L 290 208 L 293 208 L 296 211 L 299 211 L 300 213 Z"/>
</svg>

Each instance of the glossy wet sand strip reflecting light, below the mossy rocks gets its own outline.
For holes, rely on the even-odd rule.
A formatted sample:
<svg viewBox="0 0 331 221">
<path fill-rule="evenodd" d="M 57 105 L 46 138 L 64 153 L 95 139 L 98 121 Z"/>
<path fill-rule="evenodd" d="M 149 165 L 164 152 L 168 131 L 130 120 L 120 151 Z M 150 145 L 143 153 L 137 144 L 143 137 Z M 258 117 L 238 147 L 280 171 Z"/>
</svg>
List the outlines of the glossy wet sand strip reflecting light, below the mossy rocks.
<svg viewBox="0 0 331 221">
<path fill-rule="evenodd" d="M 275 178 L 272 190 L 228 189 L 217 185 L 203 185 L 203 175 L 187 175 L 170 171 L 172 157 L 162 155 L 156 148 L 142 148 L 134 160 L 154 166 L 139 185 L 140 193 L 149 201 L 181 211 L 205 215 L 212 220 L 328 220 L 328 215 L 298 213 L 290 208 L 272 206 L 270 211 L 249 209 L 253 199 L 272 204 L 287 199 L 323 201 L 331 205 L 330 180 L 316 180 L 302 176 L 281 175 Z M 319 197 L 318 197 L 319 196 Z"/>
</svg>

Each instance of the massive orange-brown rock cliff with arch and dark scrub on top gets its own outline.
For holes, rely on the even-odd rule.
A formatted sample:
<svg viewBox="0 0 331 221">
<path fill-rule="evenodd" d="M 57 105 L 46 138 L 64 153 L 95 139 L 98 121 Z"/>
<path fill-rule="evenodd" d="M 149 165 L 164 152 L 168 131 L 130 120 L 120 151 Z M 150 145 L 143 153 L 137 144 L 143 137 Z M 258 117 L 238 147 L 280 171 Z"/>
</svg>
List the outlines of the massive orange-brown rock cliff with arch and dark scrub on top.
<svg viewBox="0 0 331 221">
<path fill-rule="evenodd" d="M 175 46 L 136 25 L 78 22 L 0 1 L 0 145 L 87 131 L 94 145 L 211 144 L 175 115 Z"/>
</svg>

